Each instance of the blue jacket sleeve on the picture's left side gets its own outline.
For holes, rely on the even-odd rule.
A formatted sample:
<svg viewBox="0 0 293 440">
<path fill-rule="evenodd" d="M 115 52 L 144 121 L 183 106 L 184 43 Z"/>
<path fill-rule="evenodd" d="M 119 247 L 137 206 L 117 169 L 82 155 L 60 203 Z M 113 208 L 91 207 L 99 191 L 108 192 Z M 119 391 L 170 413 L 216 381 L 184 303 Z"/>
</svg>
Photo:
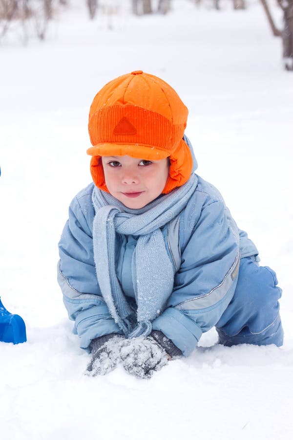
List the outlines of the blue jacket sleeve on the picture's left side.
<svg viewBox="0 0 293 440">
<path fill-rule="evenodd" d="M 88 206 L 88 209 L 93 209 Z M 90 217 L 90 216 L 89 216 Z M 74 331 L 87 348 L 92 339 L 120 329 L 110 316 L 95 273 L 92 232 L 77 198 L 69 207 L 59 242 L 58 283 Z"/>
</svg>

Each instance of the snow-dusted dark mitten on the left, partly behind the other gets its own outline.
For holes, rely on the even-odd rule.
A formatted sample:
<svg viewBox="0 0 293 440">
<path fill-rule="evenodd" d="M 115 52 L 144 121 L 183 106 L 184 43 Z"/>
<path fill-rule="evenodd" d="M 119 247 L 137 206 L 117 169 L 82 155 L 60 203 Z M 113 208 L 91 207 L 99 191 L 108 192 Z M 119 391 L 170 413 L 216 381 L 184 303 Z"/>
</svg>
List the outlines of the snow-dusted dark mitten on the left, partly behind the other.
<svg viewBox="0 0 293 440">
<path fill-rule="evenodd" d="M 110 373 L 120 361 L 120 344 L 122 335 L 111 333 L 93 339 L 90 343 L 92 358 L 87 366 L 87 376 L 97 376 Z"/>
</svg>

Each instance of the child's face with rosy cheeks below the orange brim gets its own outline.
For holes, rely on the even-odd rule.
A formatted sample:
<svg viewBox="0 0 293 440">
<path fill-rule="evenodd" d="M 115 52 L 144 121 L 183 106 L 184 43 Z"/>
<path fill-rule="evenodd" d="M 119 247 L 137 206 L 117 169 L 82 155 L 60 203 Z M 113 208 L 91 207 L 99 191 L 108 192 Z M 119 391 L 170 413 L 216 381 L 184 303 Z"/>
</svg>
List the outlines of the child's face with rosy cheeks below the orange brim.
<svg viewBox="0 0 293 440">
<path fill-rule="evenodd" d="M 105 182 L 112 196 L 127 208 L 138 209 L 157 198 L 169 175 L 169 160 L 103 156 Z"/>
</svg>

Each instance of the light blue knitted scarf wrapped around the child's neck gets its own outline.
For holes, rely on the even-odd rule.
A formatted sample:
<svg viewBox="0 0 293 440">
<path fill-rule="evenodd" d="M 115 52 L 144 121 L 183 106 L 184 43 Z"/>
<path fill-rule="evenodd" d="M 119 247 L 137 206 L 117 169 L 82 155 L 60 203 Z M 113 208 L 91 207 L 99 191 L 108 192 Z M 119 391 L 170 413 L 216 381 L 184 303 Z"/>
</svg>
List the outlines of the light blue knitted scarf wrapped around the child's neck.
<svg viewBox="0 0 293 440">
<path fill-rule="evenodd" d="M 111 316 L 126 337 L 147 336 L 151 321 L 163 310 L 173 290 L 174 268 L 160 227 L 187 205 L 197 185 L 188 181 L 140 209 L 127 208 L 95 187 L 93 247 L 98 283 Z M 115 233 L 138 237 L 131 271 L 137 310 L 128 304 L 115 272 Z"/>
</svg>

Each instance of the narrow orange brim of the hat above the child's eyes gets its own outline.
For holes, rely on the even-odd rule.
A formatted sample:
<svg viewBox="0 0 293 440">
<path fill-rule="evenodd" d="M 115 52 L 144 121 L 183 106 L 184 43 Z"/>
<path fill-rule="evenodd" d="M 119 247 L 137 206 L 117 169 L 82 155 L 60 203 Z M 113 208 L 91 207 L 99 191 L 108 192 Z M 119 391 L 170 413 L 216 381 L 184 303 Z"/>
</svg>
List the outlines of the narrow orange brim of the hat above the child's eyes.
<svg viewBox="0 0 293 440">
<path fill-rule="evenodd" d="M 98 144 L 86 150 L 90 156 L 131 156 L 137 159 L 160 160 L 166 159 L 171 153 L 166 150 L 139 144 Z"/>
</svg>

